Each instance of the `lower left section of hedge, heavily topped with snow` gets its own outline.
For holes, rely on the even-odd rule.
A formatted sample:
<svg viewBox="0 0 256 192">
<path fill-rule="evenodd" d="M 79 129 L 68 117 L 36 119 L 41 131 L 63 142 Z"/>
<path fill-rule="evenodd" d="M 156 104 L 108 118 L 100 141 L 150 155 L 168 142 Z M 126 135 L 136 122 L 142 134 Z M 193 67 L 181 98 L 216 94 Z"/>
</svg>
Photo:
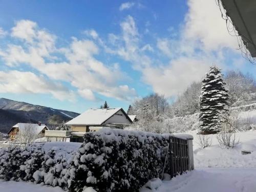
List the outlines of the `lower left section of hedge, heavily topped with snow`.
<svg viewBox="0 0 256 192">
<path fill-rule="evenodd" d="M 2 149 L 0 179 L 32 181 L 67 189 L 69 164 L 80 145 L 81 143 L 53 142 Z"/>
</svg>

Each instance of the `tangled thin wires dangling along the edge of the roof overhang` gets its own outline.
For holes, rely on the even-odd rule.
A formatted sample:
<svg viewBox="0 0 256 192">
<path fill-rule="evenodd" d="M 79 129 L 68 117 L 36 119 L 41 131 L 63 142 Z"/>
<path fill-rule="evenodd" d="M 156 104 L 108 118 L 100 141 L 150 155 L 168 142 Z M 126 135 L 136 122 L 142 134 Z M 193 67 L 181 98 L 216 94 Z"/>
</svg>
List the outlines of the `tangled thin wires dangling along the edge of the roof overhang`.
<svg viewBox="0 0 256 192">
<path fill-rule="evenodd" d="M 253 45 L 253 43 L 249 39 L 247 39 L 245 36 L 238 33 L 238 31 L 236 30 L 236 27 L 232 23 L 232 20 L 226 14 L 226 11 L 222 5 L 222 2 L 220 0 L 215 0 L 215 2 L 221 11 L 221 17 L 226 21 L 226 28 L 228 33 L 231 36 L 237 37 L 238 46 L 239 46 L 238 50 L 241 51 L 241 54 L 245 59 L 247 59 L 253 65 L 256 65 L 256 58 L 253 58 L 247 49 L 248 45 L 250 44 Z"/>
</svg>

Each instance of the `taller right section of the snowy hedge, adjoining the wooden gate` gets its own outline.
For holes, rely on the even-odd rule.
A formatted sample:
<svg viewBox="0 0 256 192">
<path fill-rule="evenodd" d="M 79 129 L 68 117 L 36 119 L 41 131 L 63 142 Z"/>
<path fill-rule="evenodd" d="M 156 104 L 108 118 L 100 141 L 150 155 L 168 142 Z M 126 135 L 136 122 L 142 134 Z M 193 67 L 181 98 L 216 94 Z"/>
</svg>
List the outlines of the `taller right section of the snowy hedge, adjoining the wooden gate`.
<svg viewBox="0 0 256 192">
<path fill-rule="evenodd" d="M 118 129 L 84 135 L 69 170 L 70 191 L 138 191 L 162 173 L 169 137 Z"/>
</svg>

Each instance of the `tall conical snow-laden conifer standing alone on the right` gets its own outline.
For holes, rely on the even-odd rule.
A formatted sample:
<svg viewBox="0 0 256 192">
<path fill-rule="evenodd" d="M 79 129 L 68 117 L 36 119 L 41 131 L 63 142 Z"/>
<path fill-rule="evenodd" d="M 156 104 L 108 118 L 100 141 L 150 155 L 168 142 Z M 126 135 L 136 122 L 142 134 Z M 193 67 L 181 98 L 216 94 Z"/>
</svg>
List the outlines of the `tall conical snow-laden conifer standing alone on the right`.
<svg viewBox="0 0 256 192">
<path fill-rule="evenodd" d="M 200 129 L 205 134 L 217 133 L 228 113 L 228 91 L 224 87 L 223 75 L 216 66 L 211 66 L 202 80 L 200 95 Z"/>
</svg>

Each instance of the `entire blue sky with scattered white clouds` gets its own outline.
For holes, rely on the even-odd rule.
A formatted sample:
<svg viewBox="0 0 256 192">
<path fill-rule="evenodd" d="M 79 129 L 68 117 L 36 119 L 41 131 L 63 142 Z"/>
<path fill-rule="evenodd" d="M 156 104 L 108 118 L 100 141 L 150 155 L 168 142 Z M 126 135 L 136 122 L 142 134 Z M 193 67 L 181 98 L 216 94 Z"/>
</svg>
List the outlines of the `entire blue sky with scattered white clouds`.
<svg viewBox="0 0 256 192">
<path fill-rule="evenodd" d="M 0 1 L 0 97 L 81 113 L 173 98 L 242 57 L 215 0 Z"/>
</svg>

